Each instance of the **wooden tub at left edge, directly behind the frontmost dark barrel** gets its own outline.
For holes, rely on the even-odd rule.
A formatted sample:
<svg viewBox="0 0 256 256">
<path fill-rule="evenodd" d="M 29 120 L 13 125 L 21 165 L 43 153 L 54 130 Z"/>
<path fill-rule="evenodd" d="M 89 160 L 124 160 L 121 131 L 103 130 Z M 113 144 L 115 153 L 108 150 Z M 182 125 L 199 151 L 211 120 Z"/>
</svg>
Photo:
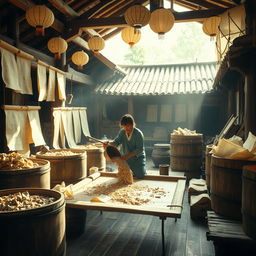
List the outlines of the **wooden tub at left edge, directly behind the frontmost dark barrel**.
<svg viewBox="0 0 256 256">
<path fill-rule="evenodd" d="M 39 166 L 29 169 L 0 170 L 0 189 L 50 188 L 50 163 L 47 160 L 30 159 Z"/>
</svg>

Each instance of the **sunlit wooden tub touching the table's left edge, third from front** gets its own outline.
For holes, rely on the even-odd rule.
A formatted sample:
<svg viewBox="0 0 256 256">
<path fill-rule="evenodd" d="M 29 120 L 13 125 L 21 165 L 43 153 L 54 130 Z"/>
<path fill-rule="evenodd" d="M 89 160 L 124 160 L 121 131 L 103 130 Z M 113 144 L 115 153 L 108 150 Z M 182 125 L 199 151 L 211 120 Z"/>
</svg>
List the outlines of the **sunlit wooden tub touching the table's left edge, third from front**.
<svg viewBox="0 0 256 256">
<path fill-rule="evenodd" d="M 60 184 L 66 185 L 77 183 L 87 175 L 87 153 L 80 149 L 52 149 L 50 152 L 72 151 L 77 153 L 70 156 L 49 156 L 37 153 L 36 157 L 50 161 L 51 164 L 51 187 Z"/>
</svg>

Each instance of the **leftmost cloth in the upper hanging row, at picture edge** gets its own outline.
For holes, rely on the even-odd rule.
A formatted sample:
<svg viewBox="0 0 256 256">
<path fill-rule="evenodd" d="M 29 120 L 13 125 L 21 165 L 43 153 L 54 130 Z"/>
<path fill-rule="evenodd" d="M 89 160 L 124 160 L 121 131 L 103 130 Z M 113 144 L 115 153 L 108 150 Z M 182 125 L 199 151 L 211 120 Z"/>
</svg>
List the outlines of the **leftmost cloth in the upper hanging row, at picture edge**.
<svg viewBox="0 0 256 256">
<path fill-rule="evenodd" d="M 20 92 L 18 80 L 18 69 L 15 54 L 0 47 L 1 50 L 1 65 L 2 77 L 7 88 Z"/>
</svg>

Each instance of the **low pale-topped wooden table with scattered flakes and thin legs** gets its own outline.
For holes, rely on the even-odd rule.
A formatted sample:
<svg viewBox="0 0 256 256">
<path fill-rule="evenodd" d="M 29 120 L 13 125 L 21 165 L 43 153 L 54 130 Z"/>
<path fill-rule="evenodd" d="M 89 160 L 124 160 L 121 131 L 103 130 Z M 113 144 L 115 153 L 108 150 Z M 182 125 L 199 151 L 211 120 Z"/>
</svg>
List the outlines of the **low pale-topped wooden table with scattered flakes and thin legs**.
<svg viewBox="0 0 256 256">
<path fill-rule="evenodd" d="M 136 214 L 147 214 L 158 216 L 162 220 L 162 250 L 165 254 L 164 244 L 164 220 L 166 218 L 181 217 L 182 204 L 185 193 L 186 178 L 181 176 L 159 176 L 145 175 L 143 179 L 134 180 L 136 184 L 149 187 L 160 187 L 166 191 L 166 196 L 153 198 L 149 203 L 142 205 L 128 205 L 118 202 L 107 201 L 105 203 L 91 202 L 91 198 L 97 195 L 88 196 L 86 190 L 95 185 L 106 185 L 116 183 L 116 173 L 101 172 L 100 176 L 88 177 L 74 186 L 74 199 L 66 200 L 67 207 L 91 209 L 100 211 L 127 212 Z"/>
</svg>

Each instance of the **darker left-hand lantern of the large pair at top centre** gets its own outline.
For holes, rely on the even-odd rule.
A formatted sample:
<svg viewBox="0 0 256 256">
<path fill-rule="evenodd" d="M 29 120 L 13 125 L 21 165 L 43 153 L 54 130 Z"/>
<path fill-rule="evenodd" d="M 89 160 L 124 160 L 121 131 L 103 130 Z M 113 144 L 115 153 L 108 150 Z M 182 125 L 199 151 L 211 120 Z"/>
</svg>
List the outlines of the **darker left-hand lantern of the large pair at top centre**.
<svg viewBox="0 0 256 256">
<path fill-rule="evenodd" d="M 150 11 L 142 5 L 133 5 L 124 13 L 126 23 L 135 28 L 146 26 L 150 20 Z"/>
</svg>

